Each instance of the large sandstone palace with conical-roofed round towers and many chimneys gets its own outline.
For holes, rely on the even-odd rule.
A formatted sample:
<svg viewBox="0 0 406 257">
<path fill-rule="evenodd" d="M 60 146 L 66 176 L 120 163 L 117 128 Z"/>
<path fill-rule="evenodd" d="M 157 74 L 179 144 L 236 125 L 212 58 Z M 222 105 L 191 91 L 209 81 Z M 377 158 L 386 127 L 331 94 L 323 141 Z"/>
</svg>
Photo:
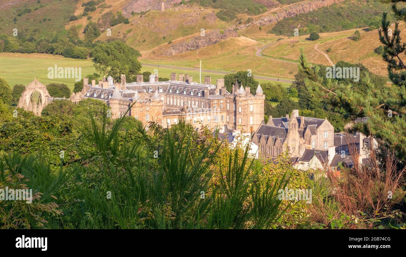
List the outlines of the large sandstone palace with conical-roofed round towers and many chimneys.
<svg viewBox="0 0 406 257">
<path fill-rule="evenodd" d="M 111 107 L 112 118 L 130 109 L 127 115 L 145 126 L 154 121 L 170 127 L 185 119 L 197 129 L 227 125 L 252 133 L 263 121 L 265 96 L 260 85 L 251 94 L 249 87 L 244 88 L 236 81 L 230 93 L 224 79 L 217 79 L 213 85 L 206 76 L 204 84 L 200 84 L 188 74 L 179 74 L 177 79 L 176 73 L 171 74 L 170 81 L 158 81 L 158 74 L 151 74 L 148 82 L 144 82 L 143 75 L 137 75 L 132 83 L 126 83 L 125 75 L 121 75 L 120 81 L 113 83 L 111 77 L 104 77 L 98 84 L 95 80 L 89 84 L 89 79 L 84 78 L 83 90 L 72 94 L 71 100 L 75 103 L 84 98 L 102 100 Z"/>
</svg>

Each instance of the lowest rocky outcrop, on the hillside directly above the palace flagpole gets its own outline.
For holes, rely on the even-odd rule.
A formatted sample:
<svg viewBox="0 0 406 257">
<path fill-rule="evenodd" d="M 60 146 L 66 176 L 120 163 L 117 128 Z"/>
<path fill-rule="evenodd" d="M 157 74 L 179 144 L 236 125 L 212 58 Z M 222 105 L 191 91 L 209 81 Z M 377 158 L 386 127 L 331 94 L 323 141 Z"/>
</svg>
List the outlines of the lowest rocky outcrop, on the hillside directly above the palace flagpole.
<svg viewBox="0 0 406 257">
<path fill-rule="evenodd" d="M 230 37 L 238 37 L 238 33 L 235 30 L 224 30 L 224 33 L 220 33 L 220 30 L 210 31 L 205 33 L 204 36 L 197 36 L 186 41 L 173 44 L 171 48 L 164 51 L 164 55 L 180 54 L 186 51 L 193 51 L 205 46 L 216 44 L 222 40 Z"/>
</svg>

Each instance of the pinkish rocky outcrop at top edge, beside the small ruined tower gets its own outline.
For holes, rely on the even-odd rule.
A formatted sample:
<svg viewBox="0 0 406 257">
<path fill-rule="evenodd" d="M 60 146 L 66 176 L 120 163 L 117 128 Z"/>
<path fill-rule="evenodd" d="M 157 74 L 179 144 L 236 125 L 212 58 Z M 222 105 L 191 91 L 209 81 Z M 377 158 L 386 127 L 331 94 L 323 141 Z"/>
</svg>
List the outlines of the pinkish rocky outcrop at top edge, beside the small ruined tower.
<svg viewBox="0 0 406 257">
<path fill-rule="evenodd" d="M 189 0 L 186 0 L 188 2 Z M 181 0 L 132 0 L 123 8 L 123 15 L 131 17 L 131 12 L 141 13 L 146 11 L 164 11 L 172 8 L 173 4 L 179 4 Z"/>
</svg>

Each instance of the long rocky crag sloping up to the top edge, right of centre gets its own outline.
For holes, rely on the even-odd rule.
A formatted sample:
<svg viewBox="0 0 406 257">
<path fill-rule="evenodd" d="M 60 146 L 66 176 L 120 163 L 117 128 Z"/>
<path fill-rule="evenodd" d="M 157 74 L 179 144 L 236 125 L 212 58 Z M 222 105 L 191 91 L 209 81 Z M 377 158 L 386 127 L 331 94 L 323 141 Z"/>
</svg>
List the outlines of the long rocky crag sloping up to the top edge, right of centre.
<svg viewBox="0 0 406 257">
<path fill-rule="evenodd" d="M 242 24 L 238 26 L 238 28 L 246 28 L 250 25 L 268 25 L 271 24 L 272 22 L 279 22 L 280 20 L 283 20 L 285 18 L 290 18 L 290 17 L 295 17 L 296 15 L 300 13 L 308 13 L 313 10 L 329 6 L 331 4 L 343 2 L 344 0 L 315 0 L 312 2 L 305 2 L 305 3 L 300 3 L 300 4 L 295 4 L 291 5 L 289 7 L 286 7 L 280 11 L 277 11 L 276 13 L 261 17 L 257 20 L 253 20 L 252 22 L 248 24 Z"/>
</svg>

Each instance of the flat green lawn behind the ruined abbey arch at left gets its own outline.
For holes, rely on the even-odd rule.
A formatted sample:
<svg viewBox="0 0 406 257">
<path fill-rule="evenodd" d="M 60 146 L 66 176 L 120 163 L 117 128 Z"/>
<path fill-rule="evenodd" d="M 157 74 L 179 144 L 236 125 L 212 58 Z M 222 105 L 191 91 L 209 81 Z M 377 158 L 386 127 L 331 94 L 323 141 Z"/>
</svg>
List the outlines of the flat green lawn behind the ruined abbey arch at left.
<svg viewBox="0 0 406 257">
<path fill-rule="evenodd" d="M 75 84 L 74 78 L 48 78 L 48 68 L 53 68 L 55 65 L 64 68 L 81 68 L 82 78 L 95 72 L 90 60 L 65 58 L 52 54 L 0 53 L 0 77 L 4 78 L 11 87 L 15 84 L 28 85 L 34 78 L 37 78 L 44 85 L 65 83 L 72 90 Z"/>
</svg>

